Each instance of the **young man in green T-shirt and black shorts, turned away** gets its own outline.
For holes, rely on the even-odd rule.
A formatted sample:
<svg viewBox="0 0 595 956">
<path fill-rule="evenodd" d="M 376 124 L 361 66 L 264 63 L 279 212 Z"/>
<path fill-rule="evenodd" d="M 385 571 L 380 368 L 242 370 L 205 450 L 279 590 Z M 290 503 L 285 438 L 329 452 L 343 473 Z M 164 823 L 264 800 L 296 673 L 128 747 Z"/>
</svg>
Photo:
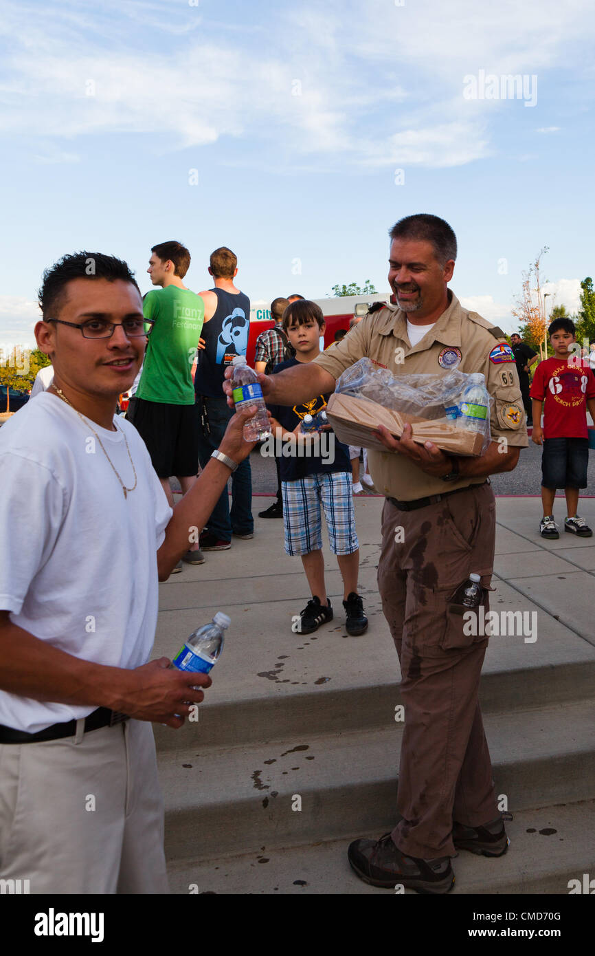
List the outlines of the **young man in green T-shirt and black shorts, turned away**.
<svg viewBox="0 0 595 956">
<path fill-rule="evenodd" d="M 182 494 L 192 488 L 199 470 L 199 434 L 194 412 L 192 362 L 201 337 L 204 303 L 184 286 L 190 252 L 181 243 L 159 243 L 151 249 L 147 272 L 154 286 L 144 296 L 142 310 L 154 322 L 134 409 L 127 418 L 138 428 L 170 504 L 169 484 L 175 475 Z M 182 559 L 203 564 L 198 543 Z M 181 571 L 181 562 L 174 569 Z"/>
</svg>

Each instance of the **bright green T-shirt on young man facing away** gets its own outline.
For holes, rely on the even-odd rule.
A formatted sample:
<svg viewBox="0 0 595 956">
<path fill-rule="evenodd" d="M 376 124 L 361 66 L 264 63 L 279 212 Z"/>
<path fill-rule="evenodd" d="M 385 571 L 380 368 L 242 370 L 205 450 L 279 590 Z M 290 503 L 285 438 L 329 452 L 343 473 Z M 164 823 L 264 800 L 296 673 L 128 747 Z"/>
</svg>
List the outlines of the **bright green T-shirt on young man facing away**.
<svg viewBox="0 0 595 956">
<path fill-rule="evenodd" d="M 147 402 L 193 405 L 192 363 L 204 318 L 201 296 L 178 286 L 155 289 L 145 295 L 142 312 L 145 318 L 154 319 L 155 325 L 147 338 L 137 397 Z"/>
</svg>

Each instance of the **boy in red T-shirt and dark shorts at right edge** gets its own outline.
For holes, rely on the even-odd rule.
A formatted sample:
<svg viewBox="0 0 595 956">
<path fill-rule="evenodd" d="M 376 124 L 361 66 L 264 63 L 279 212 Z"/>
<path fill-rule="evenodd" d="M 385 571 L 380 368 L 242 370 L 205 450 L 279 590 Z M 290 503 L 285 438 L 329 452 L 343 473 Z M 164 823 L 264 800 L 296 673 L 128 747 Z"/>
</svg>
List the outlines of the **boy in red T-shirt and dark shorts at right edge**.
<svg viewBox="0 0 595 956">
<path fill-rule="evenodd" d="M 595 421 L 595 377 L 580 354 L 574 356 L 574 322 L 555 318 L 547 330 L 554 350 L 551 359 L 540 362 L 535 370 L 530 396 L 533 400 L 533 441 L 543 445 L 542 537 L 557 538 L 554 521 L 556 489 L 563 488 L 568 516 L 564 531 L 591 537 L 584 518 L 577 515 L 579 489 L 586 488 L 588 434 L 586 408 Z M 542 406 L 545 399 L 542 428 Z"/>
</svg>

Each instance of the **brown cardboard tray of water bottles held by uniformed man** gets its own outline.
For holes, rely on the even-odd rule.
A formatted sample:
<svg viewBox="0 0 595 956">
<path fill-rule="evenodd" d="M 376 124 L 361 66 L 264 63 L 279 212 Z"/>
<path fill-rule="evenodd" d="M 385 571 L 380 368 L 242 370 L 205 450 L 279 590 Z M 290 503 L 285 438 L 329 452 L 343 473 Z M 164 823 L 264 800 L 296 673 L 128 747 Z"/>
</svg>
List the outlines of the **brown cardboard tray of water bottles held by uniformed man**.
<svg viewBox="0 0 595 956">
<path fill-rule="evenodd" d="M 372 402 L 370 399 L 356 399 L 351 395 L 334 393 L 327 405 L 329 423 L 340 442 L 346 445 L 362 445 L 377 451 L 387 451 L 384 445 L 372 434 L 379 424 L 400 438 L 406 424 L 413 426 L 413 439 L 423 445 L 434 442 L 442 451 L 454 455 L 480 455 L 483 435 L 477 431 L 467 431 L 452 424 L 438 424 L 404 415 L 390 408 Z"/>
</svg>

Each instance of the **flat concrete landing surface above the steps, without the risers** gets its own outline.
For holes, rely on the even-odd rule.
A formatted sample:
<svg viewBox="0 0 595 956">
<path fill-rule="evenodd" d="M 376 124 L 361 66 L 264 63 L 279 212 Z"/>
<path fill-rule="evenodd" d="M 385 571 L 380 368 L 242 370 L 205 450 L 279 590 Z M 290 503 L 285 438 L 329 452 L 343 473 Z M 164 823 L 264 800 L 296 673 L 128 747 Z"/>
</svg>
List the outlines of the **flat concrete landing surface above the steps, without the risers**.
<svg viewBox="0 0 595 956">
<path fill-rule="evenodd" d="M 272 502 L 272 498 L 270 501 Z M 255 517 L 251 541 L 233 539 L 229 551 L 209 552 L 198 567 L 184 564 L 180 575 L 159 585 L 156 655 L 171 657 L 198 626 L 224 611 L 231 618 L 213 686 L 203 705 L 223 700 L 279 698 L 327 693 L 362 681 L 393 683 L 398 662 L 376 587 L 383 498 L 355 501 L 360 542 L 360 592 L 370 619 L 368 632 L 350 638 L 344 627 L 342 584 L 336 559 L 325 541 L 327 588 L 333 621 L 301 638 L 291 618 L 308 601 L 299 558 L 283 550 L 283 522 Z M 502 666 L 531 667 L 591 656 L 595 646 L 593 583 L 595 536 L 563 532 L 557 502 L 558 541 L 539 534 L 541 503 L 535 498 L 497 499 L 497 544 L 492 607 L 539 612 L 538 640 L 513 637 L 490 641 L 484 673 Z M 254 512 L 268 500 L 258 498 Z M 581 502 L 581 514 L 595 528 L 595 499 Z M 306 690 L 302 690 L 306 688 Z M 230 741 L 231 743 L 231 741 Z"/>
</svg>

